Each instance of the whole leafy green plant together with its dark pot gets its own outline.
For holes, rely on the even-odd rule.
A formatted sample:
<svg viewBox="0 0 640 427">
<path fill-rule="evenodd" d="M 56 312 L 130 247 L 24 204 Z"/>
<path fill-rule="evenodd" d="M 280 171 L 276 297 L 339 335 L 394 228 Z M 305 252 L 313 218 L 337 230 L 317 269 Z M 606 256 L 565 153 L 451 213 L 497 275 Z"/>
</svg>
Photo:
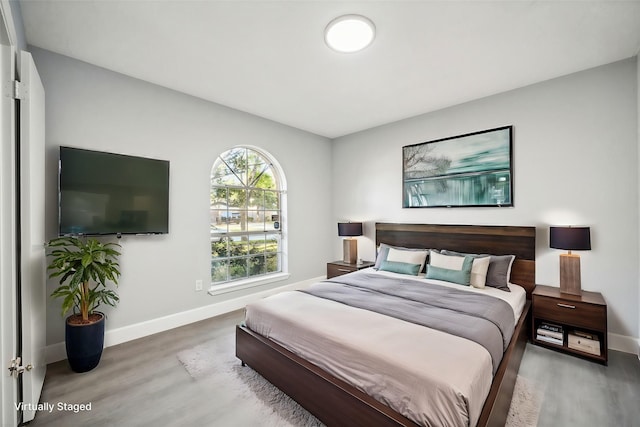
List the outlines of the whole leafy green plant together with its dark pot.
<svg viewBox="0 0 640 427">
<path fill-rule="evenodd" d="M 49 278 L 59 277 L 53 298 L 62 299 L 62 316 L 73 310 L 65 322 L 65 345 L 69 366 L 75 372 L 87 372 L 98 366 L 104 348 L 104 313 L 101 304 L 112 307 L 118 294 L 120 245 L 101 243 L 97 239 L 65 236 L 48 243 L 52 258 Z"/>
</svg>

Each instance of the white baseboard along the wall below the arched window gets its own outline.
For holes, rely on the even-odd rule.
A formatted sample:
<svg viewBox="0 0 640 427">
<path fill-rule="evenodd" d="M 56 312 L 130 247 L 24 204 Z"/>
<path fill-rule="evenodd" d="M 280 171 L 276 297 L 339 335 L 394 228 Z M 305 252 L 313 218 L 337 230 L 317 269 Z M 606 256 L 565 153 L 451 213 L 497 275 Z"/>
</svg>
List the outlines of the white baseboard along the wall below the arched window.
<svg viewBox="0 0 640 427">
<path fill-rule="evenodd" d="M 122 328 L 112 329 L 105 331 L 104 346 L 111 347 L 114 345 L 122 344 L 127 341 L 132 341 L 138 338 L 153 335 L 158 332 L 168 331 L 173 328 L 188 325 L 190 323 L 198 322 L 200 320 L 209 319 L 211 317 L 219 316 L 231 311 L 240 310 L 247 304 L 265 298 L 269 295 L 277 294 L 283 291 L 289 291 L 294 289 L 303 289 L 312 285 L 320 280 L 324 280 L 324 276 L 315 277 L 313 279 L 304 280 L 302 282 L 292 283 L 285 286 L 280 286 L 273 289 L 268 289 L 261 292 L 256 292 L 243 297 L 222 301 L 216 304 L 207 305 L 204 307 L 195 308 L 189 311 L 183 311 L 180 313 L 171 314 L 169 316 L 159 317 L 157 319 L 147 320 L 145 322 L 136 323 L 134 325 L 124 326 Z M 48 345 L 45 349 L 46 363 L 58 362 L 67 358 L 67 352 L 65 344 L 59 342 L 56 344 Z"/>
</svg>

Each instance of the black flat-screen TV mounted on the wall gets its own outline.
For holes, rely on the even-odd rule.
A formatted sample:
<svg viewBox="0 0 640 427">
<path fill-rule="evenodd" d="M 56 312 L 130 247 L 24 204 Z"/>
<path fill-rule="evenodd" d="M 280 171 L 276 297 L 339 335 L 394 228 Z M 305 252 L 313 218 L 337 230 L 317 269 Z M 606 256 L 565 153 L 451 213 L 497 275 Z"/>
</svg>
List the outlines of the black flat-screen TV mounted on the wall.
<svg viewBox="0 0 640 427">
<path fill-rule="evenodd" d="M 59 235 L 169 232 L 169 162 L 60 147 Z"/>
</svg>

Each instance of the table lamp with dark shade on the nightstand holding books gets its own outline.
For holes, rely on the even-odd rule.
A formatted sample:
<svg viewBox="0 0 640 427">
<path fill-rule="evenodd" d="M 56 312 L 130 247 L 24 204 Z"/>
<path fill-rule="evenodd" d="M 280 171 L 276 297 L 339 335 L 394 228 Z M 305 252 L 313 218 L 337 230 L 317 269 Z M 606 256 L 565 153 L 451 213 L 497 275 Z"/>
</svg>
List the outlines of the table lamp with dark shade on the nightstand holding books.
<svg viewBox="0 0 640 427">
<path fill-rule="evenodd" d="M 550 227 L 549 246 L 569 251 L 560 255 L 560 292 L 580 295 L 580 256 L 571 251 L 591 250 L 590 228 Z"/>
</svg>

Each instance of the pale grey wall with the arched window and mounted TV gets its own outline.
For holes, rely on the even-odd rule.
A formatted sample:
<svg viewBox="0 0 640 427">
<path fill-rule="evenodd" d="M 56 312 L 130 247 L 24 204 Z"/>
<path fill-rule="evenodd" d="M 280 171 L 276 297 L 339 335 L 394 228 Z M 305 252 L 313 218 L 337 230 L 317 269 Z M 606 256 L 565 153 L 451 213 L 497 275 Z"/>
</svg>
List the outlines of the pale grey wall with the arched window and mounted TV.
<svg viewBox="0 0 640 427">
<path fill-rule="evenodd" d="M 277 285 L 324 274 L 335 234 L 327 203 L 328 139 L 49 51 L 31 50 L 46 91 L 48 238 L 57 233 L 60 145 L 171 162 L 170 232 L 121 239 L 121 301 L 116 309 L 107 307 L 107 331 L 247 293 L 214 297 L 194 291 L 196 279 L 206 283 L 210 277 L 211 165 L 218 154 L 235 145 L 250 144 L 269 152 L 286 175 L 291 277 Z M 49 293 L 53 285 L 49 283 Z M 59 307 L 59 301 L 48 307 L 49 345 L 64 340 Z"/>
</svg>

